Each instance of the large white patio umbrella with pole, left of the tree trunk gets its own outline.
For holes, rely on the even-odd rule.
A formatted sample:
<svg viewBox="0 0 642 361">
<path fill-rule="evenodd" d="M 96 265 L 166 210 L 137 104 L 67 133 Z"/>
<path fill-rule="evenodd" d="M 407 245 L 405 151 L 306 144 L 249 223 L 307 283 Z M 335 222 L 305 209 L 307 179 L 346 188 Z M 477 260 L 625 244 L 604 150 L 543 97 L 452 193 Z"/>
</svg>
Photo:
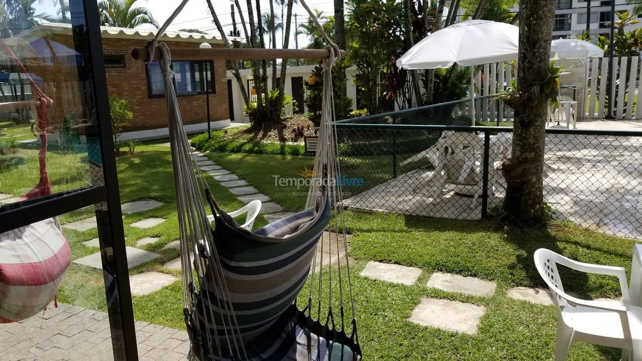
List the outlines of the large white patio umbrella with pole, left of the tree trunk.
<svg viewBox="0 0 642 361">
<path fill-rule="evenodd" d="M 517 60 L 519 28 L 503 22 L 469 20 L 435 31 L 397 60 L 403 69 L 471 67 L 471 109 L 475 125 L 473 66 Z"/>
</svg>

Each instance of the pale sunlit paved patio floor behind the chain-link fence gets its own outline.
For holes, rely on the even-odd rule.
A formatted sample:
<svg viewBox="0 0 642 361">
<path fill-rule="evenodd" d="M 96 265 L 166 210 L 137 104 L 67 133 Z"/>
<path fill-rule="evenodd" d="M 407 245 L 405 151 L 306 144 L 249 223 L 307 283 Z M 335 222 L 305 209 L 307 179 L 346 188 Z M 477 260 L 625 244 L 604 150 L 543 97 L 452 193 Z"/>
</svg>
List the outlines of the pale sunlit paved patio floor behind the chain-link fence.
<svg viewBox="0 0 642 361">
<path fill-rule="evenodd" d="M 595 127 L 615 123 L 628 130 L 642 130 L 642 121 L 590 123 Z M 442 175 L 430 166 L 419 168 L 347 198 L 344 205 L 439 218 L 482 216 L 480 198 L 460 195 L 452 185 L 440 189 L 437 177 Z M 492 207 L 501 202 L 505 183 L 491 172 L 489 186 Z M 481 193 L 481 184 L 479 187 L 477 193 Z M 642 239 L 642 137 L 549 134 L 544 199 L 561 219 L 607 234 Z"/>
</svg>

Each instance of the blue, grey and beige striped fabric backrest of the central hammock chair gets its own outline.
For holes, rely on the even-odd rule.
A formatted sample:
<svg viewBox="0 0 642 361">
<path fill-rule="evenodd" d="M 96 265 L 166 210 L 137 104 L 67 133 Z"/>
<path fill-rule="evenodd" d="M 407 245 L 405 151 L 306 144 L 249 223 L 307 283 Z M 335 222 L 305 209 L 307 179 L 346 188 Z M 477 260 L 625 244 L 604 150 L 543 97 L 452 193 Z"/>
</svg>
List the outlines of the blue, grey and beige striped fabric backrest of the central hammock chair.
<svg viewBox="0 0 642 361">
<path fill-rule="evenodd" d="M 217 217 L 214 242 L 243 342 L 270 328 L 306 282 L 318 240 L 331 217 L 327 200 L 321 204 L 325 206 L 318 212 L 310 208 L 255 233 L 236 227 L 225 215 Z M 220 290 L 213 279 L 206 276 L 200 285 L 196 316 L 202 329 L 210 328 L 225 342 L 221 317 L 228 316 L 218 307 Z"/>
</svg>

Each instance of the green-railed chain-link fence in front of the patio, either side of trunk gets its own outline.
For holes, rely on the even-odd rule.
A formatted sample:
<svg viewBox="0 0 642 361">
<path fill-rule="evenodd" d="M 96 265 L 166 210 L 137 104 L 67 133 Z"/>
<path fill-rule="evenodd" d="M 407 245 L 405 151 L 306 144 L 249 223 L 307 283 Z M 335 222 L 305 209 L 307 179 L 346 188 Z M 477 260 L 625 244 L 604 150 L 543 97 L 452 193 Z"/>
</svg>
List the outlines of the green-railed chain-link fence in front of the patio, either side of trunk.
<svg viewBox="0 0 642 361">
<path fill-rule="evenodd" d="M 499 209 L 506 183 L 498 166 L 512 149 L 512 127 L 501 125 L 512 124 L 512 110 L 490 112 L 490 103 L 492 124 L 478 118 L 485 126 L 471 127 L 470 103 L 338 121 L 343 206 L 457 219 Z M 546 133 L 544 201 L 555 217 L 642 239 L 642 132 Z"/>
</svg>

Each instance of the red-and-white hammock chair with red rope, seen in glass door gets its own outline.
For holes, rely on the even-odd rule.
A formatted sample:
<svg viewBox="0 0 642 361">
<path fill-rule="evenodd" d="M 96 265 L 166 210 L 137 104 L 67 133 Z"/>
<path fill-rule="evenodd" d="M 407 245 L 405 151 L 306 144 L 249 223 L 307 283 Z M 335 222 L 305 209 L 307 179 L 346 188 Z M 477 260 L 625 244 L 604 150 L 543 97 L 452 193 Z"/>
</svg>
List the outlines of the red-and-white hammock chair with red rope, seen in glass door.
<svg viewBox="0 0 642 361">
<path fill-rule="evenodd" d="M 47 171 L 47 112 L 53 102 L 33 82 L 12 49 L 0 38 L 3 55 L 10 58 L 26 75 L 35 106 L 37 132 L 40 137 L 38 162 L 40 181 L 20 200 L 51 194 Z M 18 322 L 42 312 L 51 301 L 56 304 L 56 293 L 71 264 L 71 250 L 57 218 L 48 218 L 0 234 L 0 324 Z M 57 306 L 57 304 L 56 304 Z"/>
</svg>

